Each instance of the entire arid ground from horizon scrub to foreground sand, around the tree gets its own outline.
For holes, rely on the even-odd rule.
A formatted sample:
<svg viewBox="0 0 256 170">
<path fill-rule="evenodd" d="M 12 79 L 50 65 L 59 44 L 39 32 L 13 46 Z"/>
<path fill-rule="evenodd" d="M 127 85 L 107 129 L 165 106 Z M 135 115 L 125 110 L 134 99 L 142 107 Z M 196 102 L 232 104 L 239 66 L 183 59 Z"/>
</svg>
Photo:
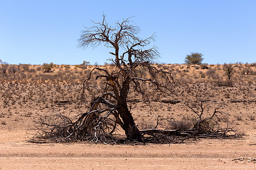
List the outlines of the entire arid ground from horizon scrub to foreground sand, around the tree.
<svg viewBox="0 0 256 170">
<path fill-rule="evenodd" d="M 164 129 L 192 120 L 185 102 L 204 98 L 210 104 L 205 115 L 221 105 L 224 116 L 218 121 L 236 129 L 236 138 L 132 146 L 29 142 L 39 117 L 86 112 L 91 98 L 81 101 L 82 82 L 94 66 L 53 65 L 44 73 L 40 65 L 1 65 L 0 169 L 256 169 L 256 65 L 233 64 L 229 83 L 222 66 L 156 64 L 173 74 L 172 94 L 158 95 L 148 87 L 148 103 L 131 90 L 129 104 L 139 129 L 154 128 L 157 118 L 168 120 L 159 122 Z M 90 86 L 99 91 L 99 84 Z M 124 137 L 121 129 L 115 135 Z"/>
</svg>

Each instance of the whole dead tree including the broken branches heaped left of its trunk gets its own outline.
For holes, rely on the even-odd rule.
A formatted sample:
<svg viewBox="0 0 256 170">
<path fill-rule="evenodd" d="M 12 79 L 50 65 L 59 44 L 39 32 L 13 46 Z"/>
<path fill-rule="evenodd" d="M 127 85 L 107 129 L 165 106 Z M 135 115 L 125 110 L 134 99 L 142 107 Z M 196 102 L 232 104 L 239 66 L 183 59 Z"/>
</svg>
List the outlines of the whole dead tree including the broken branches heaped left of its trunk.
<svg viewBox="0 0 256 170">
<path fill-rule="evenodd" d="M 85 95 L 92 96 L 88 112 L 78 114 L 75 121 L 61 114 L 40 119 L 38 126 L 35 126 L 38 133 L 31 141 L 111 142 L 117 127 L 125 131 L 129 141 L 141 141 L 142 136 L 149 133 L 148 130 L 139 131 L 134 122 L 131 106 L 127 104 L 129 91 L 133 89 L 149 100 L 146 84 L 158 92 L 167 93 L 171 92 L 174 79 L 170 72 L 151 65 L 151 61 L 159 57 L 156 46 L 150 46 L 154 35 L 140 39 L 136 36 L 140 29 L 131 24 L 130 19 L 123 19 L 112 27 L 106 23 L 104 15 L 101 23 L 85 27 L 79 39 L 79 48 L 97 47 L 103 43 L 114 49 L 110 52 L 114 68 L 108 70 L 96 66 L 84 80 L 82 99 Z M 95 91 L 96 80 L 102 84 L 100 92 Z"/>
</svg>

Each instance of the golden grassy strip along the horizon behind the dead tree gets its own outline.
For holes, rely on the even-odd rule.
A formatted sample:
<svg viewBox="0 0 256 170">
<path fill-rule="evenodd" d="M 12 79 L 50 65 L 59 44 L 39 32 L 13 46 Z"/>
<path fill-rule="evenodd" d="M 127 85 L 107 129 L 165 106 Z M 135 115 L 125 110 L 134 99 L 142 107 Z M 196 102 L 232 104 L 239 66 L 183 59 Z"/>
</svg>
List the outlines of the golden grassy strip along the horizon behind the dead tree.
<svg viewBox="0 0 256 170">
<path fill-rule="evenodd" d="M 154 66 L 163 71 L 170 71 L 178 83 L 211 83 L 217 86 L 225 86 L 225 82 L 228 80 L 224 65 L 207 65 L 207 63 L 201 65 L 166 65 L 156 63 Z M 256 63 L 235 63 L 232 66 L 234 69 L 232 82 L 247 84 L 256 82 Z M 50 73 L 45 73 L 48 71 L 45 71 L 44 65 L 2 64 L 0 65 L 0 80 L 1 82 L 81 84 L 93 67 L 92 65 L 53 64 Z M 114 66 L 108 63 L 100 67 L 108 71 L 114 69 Z"/>
</svg>

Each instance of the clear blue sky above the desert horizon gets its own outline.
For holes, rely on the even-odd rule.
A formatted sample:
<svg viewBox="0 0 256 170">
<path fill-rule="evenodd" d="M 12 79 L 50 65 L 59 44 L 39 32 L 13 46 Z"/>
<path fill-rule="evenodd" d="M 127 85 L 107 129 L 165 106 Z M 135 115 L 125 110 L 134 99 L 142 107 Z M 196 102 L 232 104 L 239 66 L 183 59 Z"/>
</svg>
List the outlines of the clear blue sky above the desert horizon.
<svg viewBox="0 0 256 170">
<path fill-rule="evenodd" d="M 77 48 L 77 39 L 102 14 L 111 24 L 133 18 L 139 37 L 156 33 L 162 63 L 184 63 L 190 52 L 206 63 L 256 62 L 255 0 L 65 1 L 0 0 L 0 59 L 18 64 L 100 64 L 104 46 Z"/>
</svg>

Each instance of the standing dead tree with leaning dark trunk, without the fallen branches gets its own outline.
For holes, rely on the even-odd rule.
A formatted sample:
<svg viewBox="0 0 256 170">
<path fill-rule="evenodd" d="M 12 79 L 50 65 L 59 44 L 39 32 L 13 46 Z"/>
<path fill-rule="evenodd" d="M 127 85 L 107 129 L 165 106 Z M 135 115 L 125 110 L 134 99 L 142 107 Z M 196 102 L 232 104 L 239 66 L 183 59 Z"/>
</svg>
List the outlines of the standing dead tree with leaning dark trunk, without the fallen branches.
<svg viewBox="0 0 256 170">
<path fill-rule="evenodd" d="M 76 121 L 76 124 L 79 124 L 76 129 L 86 126 L 86 123 L 92 120 L 90 116 L 85 118 L 88 114 L 93 115 L 99 112 L 101 114 L 107 112 L 105 120 L 110 115 L 113 115 L 114 124 L 120 125 L 125 130 L 127 139 L 139 140 L 141 132 L 135 125 L 134 118 L 127 106 L 127 96 L 130 88 L 133 87 L 136 92 L 144 97 L 147 97 L 147 95 L 142 90 L 142 84 L 146 82 L 154 84 L 156 90 L 163 91 L 165 89 L 170 91 L 171 84 L 173 83 L 171 73 L 158 70 L 151 65 L 152 59 L 159 57 L 156 46 L 147 48 L 154 41 L 154 35 L 147 39 L 140 39 L 136 36 L 140 29 L 131 24 L 130 19 L 117 22 L 115 27 L 112 27 L 106 22 L 104 15 L 101 23 L 94 23 L 93 27 L 85 27 L 85 30 L 82 31 L 79 47 L 96 47 L 103 43 L 106 47 L 113 48 L 114 52 L 110 52 L 110 54 L 114 57 L 110 58 L 110 61 L 114 63 L 116 69 L 112 73 L 100 67 L 94 67 L 90 71 L 88 79 L 83 84 L 83 94 L 91 92 L 88 82 L 92 80 L 92 73 L 94 71 L 101 73 L 95 79 L 103 79 L 105 89 L 102 94 L 94 97 L 90 111 L 81 114 Z M 121 50 L 123 50 L 122 54 Z M 142 70 L 146 71 L 150 78 L 144 77 L 141 74 Z M 98 121 L 98 124 L 101 122 L 102 120 Z"/>
</svg>

